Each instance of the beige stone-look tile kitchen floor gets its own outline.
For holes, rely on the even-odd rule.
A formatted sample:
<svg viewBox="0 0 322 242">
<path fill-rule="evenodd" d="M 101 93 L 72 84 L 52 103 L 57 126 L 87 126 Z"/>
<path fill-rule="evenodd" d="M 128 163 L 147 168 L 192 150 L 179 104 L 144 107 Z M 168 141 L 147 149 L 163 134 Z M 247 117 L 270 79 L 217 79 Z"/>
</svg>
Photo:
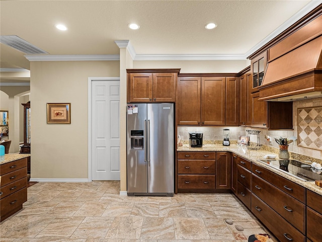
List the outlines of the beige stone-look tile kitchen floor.
<svg viewBox="0 0 322 242">
<path fill-rule="evenodd" d="M 243 242 L 267 233 L 232 194 L 127 197 L 119 191 L 119 181 L 37 183 L 24 208 L 1 222 L 0 241 Z"/>
</svg>

